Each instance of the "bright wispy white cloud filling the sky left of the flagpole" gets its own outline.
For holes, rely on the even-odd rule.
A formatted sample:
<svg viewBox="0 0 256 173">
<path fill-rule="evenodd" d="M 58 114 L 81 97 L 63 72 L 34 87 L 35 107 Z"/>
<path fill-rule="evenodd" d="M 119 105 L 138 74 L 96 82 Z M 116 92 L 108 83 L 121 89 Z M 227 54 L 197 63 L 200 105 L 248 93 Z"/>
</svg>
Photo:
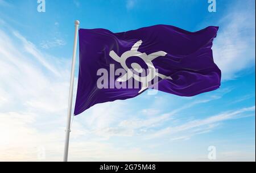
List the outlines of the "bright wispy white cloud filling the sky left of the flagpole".
<svg viewBox="0 0 256 173">
<path fill-rule="evenodd" d="M 69 61 L 44 54 L 20 33 L 7 30 L 0 27 L 0 160 L 36 161 L 39 146 L 59 157 Z"/>
</svg>

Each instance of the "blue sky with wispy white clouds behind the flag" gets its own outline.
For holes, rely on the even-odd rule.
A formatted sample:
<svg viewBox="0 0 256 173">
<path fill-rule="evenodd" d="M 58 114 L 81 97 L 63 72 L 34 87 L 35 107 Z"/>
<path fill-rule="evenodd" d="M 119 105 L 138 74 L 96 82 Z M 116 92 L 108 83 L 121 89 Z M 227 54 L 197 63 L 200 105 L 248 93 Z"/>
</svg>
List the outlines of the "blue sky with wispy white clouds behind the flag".
<svg viewBox="0 0 256 173">
<path fill-rule="evenodd" d="M 93 106 L 72 118 L 69 161 L 255 161 L 255 1 L 216 2 L 209 12 L 207 0 L 46 0 L 38 12 L 37 0 L 0 0 L 0 161 L 63 160 L 76 19 L 112 32 L 219 26 L 222 82 L 192 98 Z"/>
</svg>

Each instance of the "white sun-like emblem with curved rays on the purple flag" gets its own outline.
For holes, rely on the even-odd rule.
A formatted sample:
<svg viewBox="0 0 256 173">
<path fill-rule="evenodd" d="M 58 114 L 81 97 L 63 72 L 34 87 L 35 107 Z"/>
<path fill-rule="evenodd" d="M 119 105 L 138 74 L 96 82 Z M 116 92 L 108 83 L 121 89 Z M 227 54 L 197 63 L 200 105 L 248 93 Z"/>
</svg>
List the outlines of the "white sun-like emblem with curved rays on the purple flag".
<svg viewBox="0 0 256 173">
<path fill-rule="evenodd" d="M 123 69 L 125 69 L 127 72 L 125 75 L 118 78 L 117 81 L 118 82 L 126 82 L 130 78 L 134 78 L 136 81 L 142 82 L 142 88 L 139 91 L 139 93 L 146 90 L 150 86 L 149 82 L 151 82 L 157 76 L 162 79 L 171 79 L 171 77 L 167 77 L 166 75 L 158 73 L 158 71 L 156 71 L 156 69 L 155 69 L 154 64 L 152 63 L 152 60 L 154 60 L 155 58 L 158 58 L 158 57 L 165 57 L 167 53 L 163 52 L 163 51 L 159 51 L 159 52 L 155 52 L 155 53 L 151 53 L 151 54 L 147 55 L 146 53 L 138 52 L 138 49 L 142 45 L 142 43 L 143 43 L 142 40 L 137 41 L 137 43 L 135 43 L 133 45 L 131 50 L 128 50 L 127 52 L 123 53 L 121 57 L 119 57 L 117 55 L 117 53 L 115 53 L 113 50 L 109 53 L 109 56 L 112 57 L 113 60 L 119 62 L 122 65 Z M 148 66 L 147 70 L 150 71 L 150 73 L 148 73 L 144 77 L 140 77 L 138 74 L 135 74 L 134 71 L 129 69 L 129 67 L 126 65 L 126 60 L 129 57 L 141 58 Z M 143 71 L 141 65 L 139 65 L 137 62 L 133 62 L 131 64 L 131 67 L 135 71 L 137 71 L 137 73 L 142 73 L 142 71 Z"/>
</svg>

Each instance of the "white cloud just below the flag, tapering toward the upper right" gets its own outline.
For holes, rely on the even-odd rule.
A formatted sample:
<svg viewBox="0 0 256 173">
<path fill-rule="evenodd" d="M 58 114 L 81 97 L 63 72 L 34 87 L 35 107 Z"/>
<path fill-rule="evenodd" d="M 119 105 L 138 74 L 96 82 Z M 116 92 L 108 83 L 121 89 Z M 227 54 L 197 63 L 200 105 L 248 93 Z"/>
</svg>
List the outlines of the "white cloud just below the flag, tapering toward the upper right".
<svg viewBox="0 0 256 173">
<path fill-rule="evenodd" d="M 79 121 L 85 122 L 83 125 L 94 136 L 110 137 L 119 136 L 141 136 L 152 132 L 154 128 L 159 128 L 166 122 L 174 123 L 179 121 L 174 116 L 179 115 L 181 112 L 186 111 L 189 108 L 206 104 L 216 99 L 221 99 L 223 95 L 230 92 L 229 88 L 221 89 L 216 92 L 215 95 L 205 95 L 204 98 L 192 98 L 184 103 L 184 106 L 177 107 L 170 112 L 162 113 L 166 109 L 161 109 L 159 105 L 155 105 L 156 108 L 143 109 L 139 112 L 131 112 L 129 109 L 124 108 L 131 107 L 129 104 L 123 101 L 116 101 L 115 103 L 99 104 L 88 111 L 85 115 L 79 116 Z M 166 102 L 161 98 L 157 99 L 158 104 Z M 106 112 L 108 109 L 108 112 Z M 121 114 L 119 112 L 122 112 Z"/>
</svg>

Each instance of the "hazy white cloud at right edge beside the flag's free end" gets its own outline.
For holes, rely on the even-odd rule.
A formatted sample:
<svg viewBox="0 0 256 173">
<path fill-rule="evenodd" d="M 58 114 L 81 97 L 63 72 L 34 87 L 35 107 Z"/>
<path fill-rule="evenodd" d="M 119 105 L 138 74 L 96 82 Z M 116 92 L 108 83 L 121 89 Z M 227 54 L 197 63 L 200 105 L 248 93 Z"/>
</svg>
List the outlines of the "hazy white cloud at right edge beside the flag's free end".
<svg viewBox="0 0 256 173">
<path fill-rule="evenodd" d="M 255 2 L 246 2 L 251 5 L 238 4 L 219 22 L 220 31 L 214 40 L 213 54 L 224 81 L 255 66 Z"/>
</svg>

